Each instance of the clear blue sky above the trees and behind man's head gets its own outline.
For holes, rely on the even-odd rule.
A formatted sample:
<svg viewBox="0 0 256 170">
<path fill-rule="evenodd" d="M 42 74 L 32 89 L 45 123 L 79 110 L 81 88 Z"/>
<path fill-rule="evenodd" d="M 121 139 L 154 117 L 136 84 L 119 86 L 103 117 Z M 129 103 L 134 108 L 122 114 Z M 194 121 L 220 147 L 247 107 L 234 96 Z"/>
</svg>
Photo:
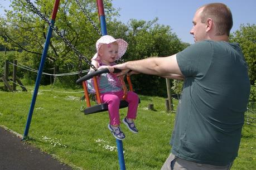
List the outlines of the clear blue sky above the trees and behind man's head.
<svg viewBox="0 0 256 170">
<path fill-rule="evenodd" d="M 181 41 L 189 43 L 194 43 L 193 37 L 189 33 L 194 13 L 198 7 L 206 3 L 221 2 L 231 9 L 234 22 L 231 32 L 239 30 L 241 24 L 256 23 L 255 0 L 113 0 L 112 2 L 115 8 L 120 8 L 120 17 L 117 18 L 119 21 L 127 23 L 131 18 L 151 21 L 158 17 L 158 23 L 170 26 L 172 32 L 175 32 Z M 1 5 L 7 8 L 9 0 L 1 0 Z M 0 10 L 0 14 L 3 14 L 3 9 Z"/>
</svg>

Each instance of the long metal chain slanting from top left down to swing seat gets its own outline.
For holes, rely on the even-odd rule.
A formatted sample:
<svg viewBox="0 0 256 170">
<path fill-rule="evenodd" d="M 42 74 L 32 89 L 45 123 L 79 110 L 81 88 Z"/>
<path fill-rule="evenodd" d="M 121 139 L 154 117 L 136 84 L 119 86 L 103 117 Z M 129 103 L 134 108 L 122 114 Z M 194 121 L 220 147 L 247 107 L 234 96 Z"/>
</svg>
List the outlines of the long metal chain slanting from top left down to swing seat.
<svg viewBox="0 0 256 170">
<path fill-rule="evenodd" d="M 36 14 L 38 14 L 38 16 L 40 16 L 42 20 L 44 20 L 52 28 L 52 30 L 54 30 L 57 33 L 57 35 L 61 37 L 61 39 L 66 43 L 66 45 L 69 46 L 71 50 L 73 50 L 76 53 L 76 55 L 78 55 L 79 59 L 83 59 L 88 65 L 90 65 L 92 69 L 94 69 L 95 71 L 97 70 L 96 67 L 93 64 L 91 64 L 91 62 L 85 56 L 83 56 L 74 47 L 74 45 L 69 40 L 67 40 L 67 38 L 64 37 L 64 35 L 61 34 L 61 32 L 57 29 L 57 27 L 53 26 L 52 23 L 44 16 L 44 14 L 38 11 L 38 9 L 33 5 L 33 3 L 30 2 L 30 0 L 26 0 L 26 1 L 28 4 L 30 4 L 30 7 L 32 8 L 31 10 Z"/>
</svg>

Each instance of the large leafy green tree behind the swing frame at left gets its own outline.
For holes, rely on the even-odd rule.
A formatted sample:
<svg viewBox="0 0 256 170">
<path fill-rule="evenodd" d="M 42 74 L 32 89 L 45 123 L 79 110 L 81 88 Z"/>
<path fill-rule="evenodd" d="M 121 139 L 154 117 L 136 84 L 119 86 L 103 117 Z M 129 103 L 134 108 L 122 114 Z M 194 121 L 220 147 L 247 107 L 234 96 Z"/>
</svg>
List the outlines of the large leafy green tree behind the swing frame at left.
<svg viewBox="0 0 256 170">
<path fill-rule="evenodd" d="M 94 0 L 80 1 L 91 20 L 96 21 L 99 27 L 98 9 Z M 36 8 L 46 18 L 51 17 L 54 1 L 35 1 Z M 11 3 L 12 9 L 6 12 L 6 17 L 0 18 L 0 31 L 7 37 L 7 41 L 0 39 L 1 45 L 20 51 L 17 56 L 18 62 L 36 68 L 41 60 L 42 50 L 48 30 L 47 23 L 42 20 L 31 9 L 25 0 L 16 0 Z M 117 12 L 112 7 L 110 0 L 104 1 L 107 22 Z M 100 35 L 94 30 L 85 14 L 81 12 L 75 1 L 61 1 L 57 12 L 55 26 L 84 56 L 88 59 L 95 52 L 95 42 Z M 45 72 L 59 73 L 78 71 L 79 60 L 71 49 L 65 45 L 60 36 L 52 33 L 52 38 L 47 52 Z M 84 64 L 82 69 L 88 69 L 89 65 Z M 30 76 L 30 75 L 28 75 Z M 32 77 L 35 79 L 35 77 Z M 65 78 L 63 78 L 65 79 Z M 70 81 L 70 79 L 67 79 Z M 49 81 L 44 80 L 47 84 Z M 74 80 L 70 81 L 74 84 Z"/>
</svg>

